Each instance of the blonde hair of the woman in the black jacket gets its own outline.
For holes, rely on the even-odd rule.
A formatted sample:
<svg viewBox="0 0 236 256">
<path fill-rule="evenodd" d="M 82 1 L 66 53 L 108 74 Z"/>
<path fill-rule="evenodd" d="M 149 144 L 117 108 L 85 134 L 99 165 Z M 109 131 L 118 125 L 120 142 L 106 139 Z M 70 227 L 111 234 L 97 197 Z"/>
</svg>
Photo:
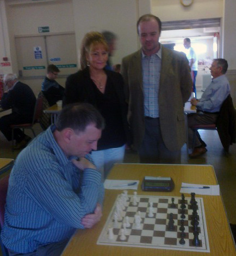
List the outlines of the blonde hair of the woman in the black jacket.
<svg viewBox="0 0 236 256">
<path fill-rule="evenodd" d="M 89 51 L 91 50 L 91 46 L 95 46 L 97 44 L 104 45 L 105 50 L 108 51 L 108 45 L 101 33 L 96 31 L 91 31 L 85 34 L 80 47 L 81 69 L 84 69 L 87 66 L 86 53 L 89 53 Z"/>
</svg>

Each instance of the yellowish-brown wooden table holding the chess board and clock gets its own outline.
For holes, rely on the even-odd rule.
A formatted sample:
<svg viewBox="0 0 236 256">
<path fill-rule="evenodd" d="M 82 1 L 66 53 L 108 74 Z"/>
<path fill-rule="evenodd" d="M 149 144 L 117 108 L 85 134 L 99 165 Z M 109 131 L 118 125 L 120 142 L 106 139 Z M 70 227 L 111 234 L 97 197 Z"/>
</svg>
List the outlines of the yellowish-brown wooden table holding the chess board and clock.
<svg viewBox="0 0 236 256">
<path fill-rule="evenodd" d="M 161 164 L 116 164 L 111 170 L 111 180 L 140 180 L 144 176 L 172 177 L 175 189 L 172 192 L 142 192 L 139 184 L 138 195 L 164 195 L 180 197 L 181 183 L 218 184 L 213 166 L 210 165 L 161 165 Z M 114 201 L 122 190 L 105 190 L 103 217 L 92 229 L 77 230 L 67 245 L 63 255 L 236 255 L 235 243 L 225 212 L 221 196 L 196 195 L 202 197 L 206 214 L 210 253 L 173 251 L 168 249 L 153 249 L 125 246 L 96 245 L 105 221 L 113 207 Z"/>
</svg>

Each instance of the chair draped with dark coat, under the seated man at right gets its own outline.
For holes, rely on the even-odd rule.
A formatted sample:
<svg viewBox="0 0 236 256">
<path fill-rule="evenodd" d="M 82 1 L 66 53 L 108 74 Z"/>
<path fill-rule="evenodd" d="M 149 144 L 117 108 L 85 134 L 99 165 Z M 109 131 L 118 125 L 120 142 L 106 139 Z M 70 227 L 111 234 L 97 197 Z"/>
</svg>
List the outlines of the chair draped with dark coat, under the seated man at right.
<svg viewBox="0 0 236 256">
<path fill-rule="evenodd" d="M 221 144 L 226 152 L 229 150 L 229 145 L 235 143 L 236 134 L 236 114 L 233 106 L 232 97 L 229 94 L 221 105 L 220 112 L 215 124 L 198 124 L 192 126 L 191 129 L 194 130 L 194 138 L 192 140 L 192 145 L 194 149 L 195 138 L 197 130 L 217 130 Z"/>
</svg>

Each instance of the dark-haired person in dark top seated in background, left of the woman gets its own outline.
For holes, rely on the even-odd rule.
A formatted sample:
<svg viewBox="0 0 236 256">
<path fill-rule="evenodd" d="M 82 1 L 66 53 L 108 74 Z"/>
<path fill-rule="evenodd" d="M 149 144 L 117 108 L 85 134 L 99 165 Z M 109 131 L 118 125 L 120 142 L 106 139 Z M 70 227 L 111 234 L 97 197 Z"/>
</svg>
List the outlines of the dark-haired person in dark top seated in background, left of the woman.
<svg viewBox="0 0 236 256">
<path fill-rule="evenodd" d="M 42 81 L 42 93 L 44 93 L 50 106 L 56 104 L 58 100 L 63 99 L 65 88 L 58 84 L 55 79 L 60 70 L 57 66 L 50 64 L 47 67 L 47 75 Z"/>
</svg>

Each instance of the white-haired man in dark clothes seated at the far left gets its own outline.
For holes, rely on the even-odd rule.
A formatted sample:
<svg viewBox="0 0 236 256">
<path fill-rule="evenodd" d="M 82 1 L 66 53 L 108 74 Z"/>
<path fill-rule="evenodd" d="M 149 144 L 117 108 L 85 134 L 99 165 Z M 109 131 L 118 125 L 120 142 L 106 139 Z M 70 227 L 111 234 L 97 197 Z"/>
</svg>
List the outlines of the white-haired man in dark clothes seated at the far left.
<svg viewBox="0 0 236 256">
<path fill-rule="evenodd" d="M 6 88 L 1 101 L 2 108 L 12 109 L 12 112 L 0 118 L 0 130 L 10 141 L 11 124 L 32 122 L 36 97 L 28 85 L 17 80 L 15 74 L 4 75 L 3 82 Z M 25 147 L 30 139 L 21 129 L 14 129 L 14 140 L 16 140 L 14 149 Z"/>
</svg>

